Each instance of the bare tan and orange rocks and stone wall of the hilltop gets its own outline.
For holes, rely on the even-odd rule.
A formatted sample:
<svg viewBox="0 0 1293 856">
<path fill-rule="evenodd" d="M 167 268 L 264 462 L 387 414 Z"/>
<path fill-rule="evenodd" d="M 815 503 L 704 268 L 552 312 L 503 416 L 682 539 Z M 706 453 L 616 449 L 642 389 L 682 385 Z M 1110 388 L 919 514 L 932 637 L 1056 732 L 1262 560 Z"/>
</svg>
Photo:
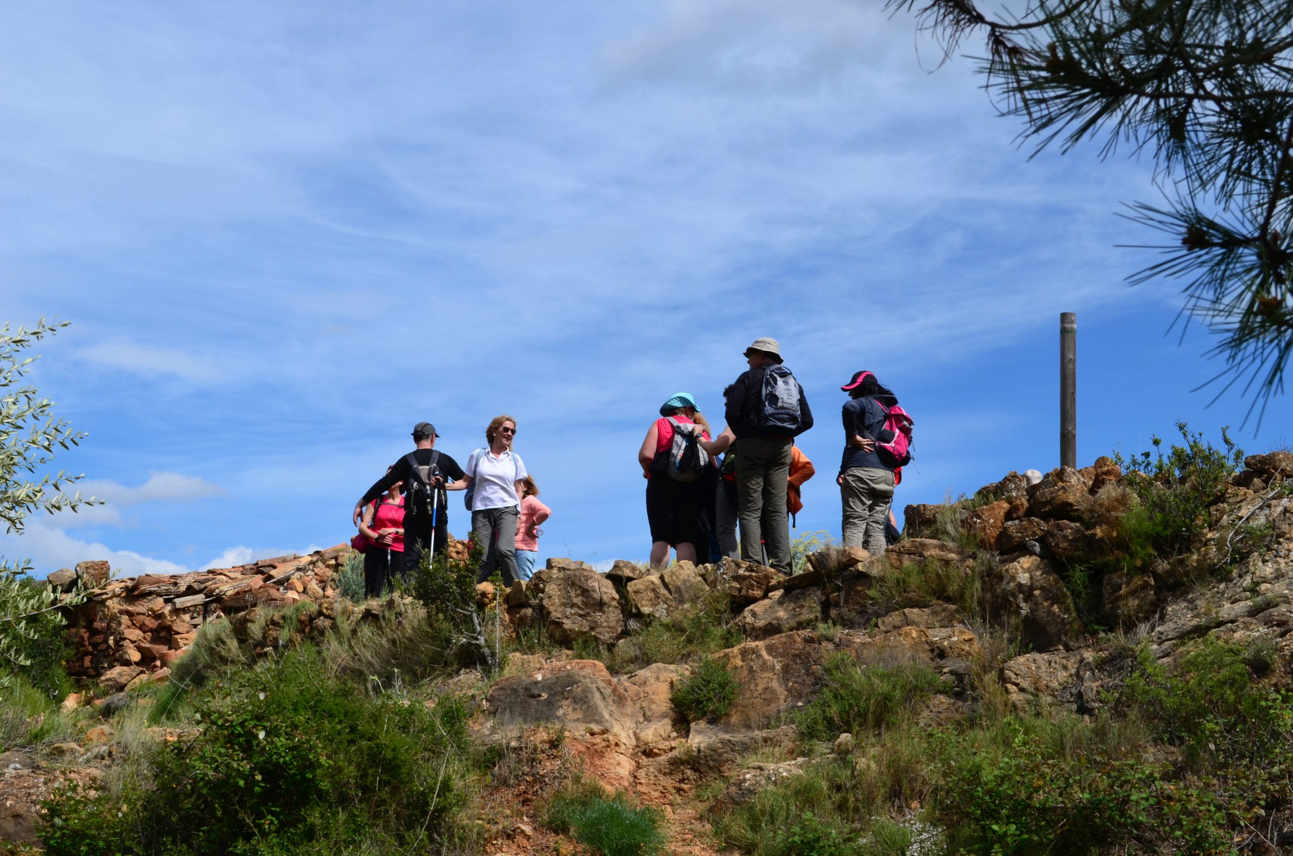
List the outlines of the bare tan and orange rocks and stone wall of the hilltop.
<svg viewBox="0 0 1293 856">
<path fill-rule="evenodd" d="M 1285 473 L 1293 473 L 1293 455 L 1272 453 L 1246 458 L 1217 485 L 1197 485 L 1206 487 L 1199 525 L 1160 533 L 1183 547 L 1152 555 L 1127 524 L 1142 506 L 1135 480 L 1149 476 L 1124 475 L 1102 458 L 1084 469 L 1010 473 L 957 503 L 908 506 L 906 537 L 884 556 L 828 547 L 807 555 L 791 577 L 731 559 L 662 572 L 617 561 L 605 573 L 551 559 L 529 583 L 504 592 L 482 584 L 480 604 L 497 606 L 494 644 L 507 649 L 504 666 L 429 684 L 472 700 L 480 744 L 529 753 L 528 775 L 487 785 L 482 799 L 507 811 L 487 824 L 480 847 L 524 853 L 553 846 L 540 822 L 544 781 L 577 768 L 662 807 L 676 852 L 721 851 L 733 839 L 712 838 L 715 817 L 821 762 L 822 749 L 806 742 L 803 711 L 842 662 L 864 672 L 932 672 L 932 693 L 903 714 L 931 729 L 1011 711 L 1094 723 L 1124 710 L 1134 674 L 1170 672 L 1205 637 L 1261 650 L 1261 678 L 1285 685 L 1293 675 L 1293 491 Z M 69 671 L 97 684 L 74 703 L 97 694 L 102 705 L 166 681 L 204 626 L 229 622 L 262 657 L 328 634 L 339 621 L 405 615 L 410 606 L 400 597 L 367 605 L 340 597 L 336 578 L 348 553 L 334 547 L 175 578 L 107 581 L 106 566 L 93 562 L 52 575 L 54 586 L 102 583 L 70 617 Z M 279 634 L 265 619 L 284 608 L 309 632 Z M 674 645 L 667 656 L 665 641 Z M 720 663 L 740 689 L 712 715 L 684 715 L 678 693 L 702 661 Z M 993 693 L 1003 707 L 989 703 Z M 855 753 L 853 734 L 830 738 L 833 756 Z M 855 758 L 851 775 L 878 776 L 877 753 Z M 110 760 L 111 753 L 101 754 L 98 765 Z M 25 804 L 35 811 L 31 799 Z M 919 809 L 919 800 L 893 808 L 909 820 Z M 1265 824 L 1261 842 L 1288 842 L 1287 808 L 1272 809 Z M 30 822 L 12 826 L 30 835 Z"/>
</svg>

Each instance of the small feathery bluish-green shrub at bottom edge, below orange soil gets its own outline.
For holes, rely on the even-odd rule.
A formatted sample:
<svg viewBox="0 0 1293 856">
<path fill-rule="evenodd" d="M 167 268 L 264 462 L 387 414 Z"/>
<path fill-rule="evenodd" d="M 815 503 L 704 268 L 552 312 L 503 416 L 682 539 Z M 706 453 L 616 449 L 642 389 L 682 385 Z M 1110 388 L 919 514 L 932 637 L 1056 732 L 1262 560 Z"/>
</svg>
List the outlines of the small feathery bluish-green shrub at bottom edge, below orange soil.
<svg viewBox="0 0 1293 856">
<path fill-rule="evenodd" d="M 665 844 L 659 812 L 634 807 L 625 794 L 608 797 L 592 780 L 566 785 L 552 799 L 547 821 L 604 856 L 649 856 Z"/>
</svg>

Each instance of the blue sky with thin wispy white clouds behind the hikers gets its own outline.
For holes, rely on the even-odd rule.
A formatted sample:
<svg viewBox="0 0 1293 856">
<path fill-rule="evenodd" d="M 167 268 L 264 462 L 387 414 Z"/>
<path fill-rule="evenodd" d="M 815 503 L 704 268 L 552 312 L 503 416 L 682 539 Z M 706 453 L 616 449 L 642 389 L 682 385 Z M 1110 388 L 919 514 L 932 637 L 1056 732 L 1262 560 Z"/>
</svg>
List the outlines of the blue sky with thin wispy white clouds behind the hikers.
<svg viewBox="0 0 1293 856">
<path fill-rule="evenodd" d="M 1175 286 L 1124 282 L 1149 164 L 1029 160 L 971 63 L 932 71 L 882 5 L 12 4 L 4 318 L 74 322 L 32 379 L 109 504 L 0 550 L 164 573 L 326 547 L 414 423 L 463 460 L 508 412 L 543 556 L 640 559 L 656 409 L 720 420 L 764 335 L 818 420 L 800 531 L 838 534 L 857 369 L 917 420 L 899 506 L 1053 467 L 1065 310 L 1084 463 L 1237 427 L 1248 401 L 1190 392 L 1209 337 L 1165 336 Z"/>
</svg>

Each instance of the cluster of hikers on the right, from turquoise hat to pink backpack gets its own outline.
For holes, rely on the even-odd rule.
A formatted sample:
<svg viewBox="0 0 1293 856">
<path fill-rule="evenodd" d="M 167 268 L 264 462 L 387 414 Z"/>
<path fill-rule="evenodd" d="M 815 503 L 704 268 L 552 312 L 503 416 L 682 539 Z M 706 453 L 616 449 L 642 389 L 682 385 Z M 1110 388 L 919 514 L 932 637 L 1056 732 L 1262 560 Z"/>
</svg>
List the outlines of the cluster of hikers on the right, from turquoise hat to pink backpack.
<svg viewBox="0 0 1293 856">
<path fill-rule="evenodd" d="M 776 339 L 755 339 L 745 358 L 749 370 L 723 391 L 727 425 L 716 436 L 688 393 L 666 401 L 646 431 L 637 462 L 646 478 L 652 565 L 667 564 L 672 548 L 679 561 L 740 556 L 791 572 L 790 517 L 815 473 L 795 437 L 813 427 L 812 410 Z M 835 478 L 843 539 L 881 553 L 887 530 L 896 535 L 890 507 L 910 460 L 912 418 L 869 371 L 840 389 L 850 396 Z"/>
</svg>

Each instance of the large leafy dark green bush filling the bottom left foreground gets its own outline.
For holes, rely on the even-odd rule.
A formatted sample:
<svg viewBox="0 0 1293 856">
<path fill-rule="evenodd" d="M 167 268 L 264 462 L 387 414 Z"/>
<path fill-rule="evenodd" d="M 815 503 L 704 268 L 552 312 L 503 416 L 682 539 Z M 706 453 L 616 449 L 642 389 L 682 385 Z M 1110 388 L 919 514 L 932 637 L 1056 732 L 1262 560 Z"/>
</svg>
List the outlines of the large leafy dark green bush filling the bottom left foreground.
<svg viewBox="0 0 1293 856">
<path fill-rule="evenodd" d="M 162 745 L 151 786 L 127 800 L 120 835 L 129 852 L 396 852 L 454 834 L 465 705 L 441 700 L 427 710 L 369 697 L 330 678 L 308 647 L 225 681 L 197 706 L 200 733 Z M 115 802 L 56 794 L 48 852 L 83 852 L 59 830 L 110 822 Z"/>
</svg>

